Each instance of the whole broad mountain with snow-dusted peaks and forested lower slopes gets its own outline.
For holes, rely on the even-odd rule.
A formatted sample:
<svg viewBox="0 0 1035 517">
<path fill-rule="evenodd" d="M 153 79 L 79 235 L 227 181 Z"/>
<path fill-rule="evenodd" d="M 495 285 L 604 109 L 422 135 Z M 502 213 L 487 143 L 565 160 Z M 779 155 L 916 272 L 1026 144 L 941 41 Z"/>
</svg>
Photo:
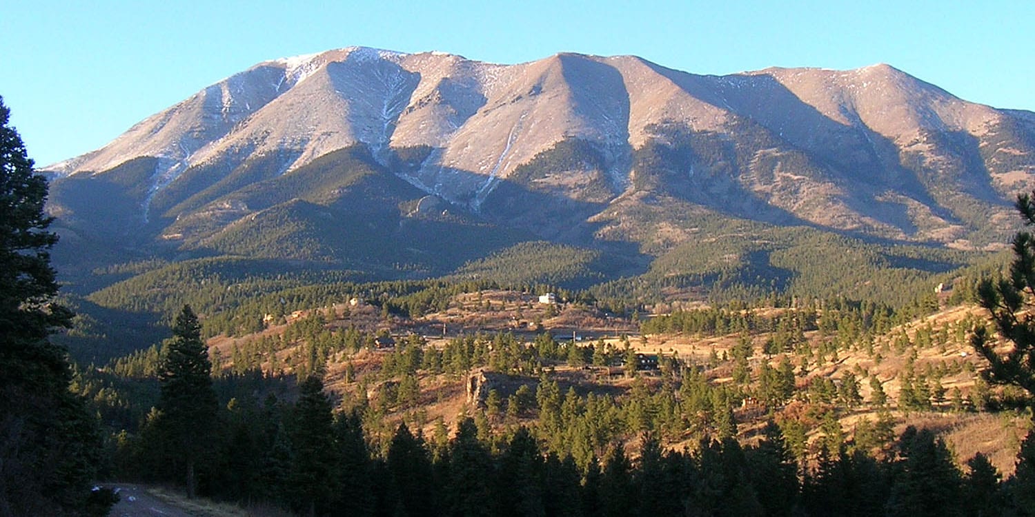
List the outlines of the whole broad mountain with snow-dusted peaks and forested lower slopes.
<svg viewBox="0 0 1035 517">
<path fill-rule="evenodd" d="M 884 64 L 700 75 L 349 48 L 260 63 L 42 171 L 85 292 L 155 257 L 426 277 L 529 241 L 607 257 L 581 278 L 664 278 L 729 242 L 699 266 L 804 242 L 788 227 L 1001 247 L 1035 187 L 1035 114 Z M 794 276 L 763 258 L 751 274 Z"/>
</svg>

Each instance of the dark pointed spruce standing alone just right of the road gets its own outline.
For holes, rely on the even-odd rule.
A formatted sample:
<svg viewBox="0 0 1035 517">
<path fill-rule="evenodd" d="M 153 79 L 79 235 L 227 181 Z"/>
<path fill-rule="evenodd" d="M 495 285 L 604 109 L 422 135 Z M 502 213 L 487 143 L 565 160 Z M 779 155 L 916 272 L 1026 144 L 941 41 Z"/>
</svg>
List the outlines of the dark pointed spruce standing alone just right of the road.
<svg viewBox="0 0 1035 517">
<path fill-rule="evenodd" d="M 187 497 L 198 487 L 197 467 L 211 452 L 218 402 L 212 389 L 212 365 L 201 339 L 201 324 L 189 305 L 176 316 L 158 381 L 161 394 L 157 425 L 171 464 L 184 476 Z"/>
</svg>

